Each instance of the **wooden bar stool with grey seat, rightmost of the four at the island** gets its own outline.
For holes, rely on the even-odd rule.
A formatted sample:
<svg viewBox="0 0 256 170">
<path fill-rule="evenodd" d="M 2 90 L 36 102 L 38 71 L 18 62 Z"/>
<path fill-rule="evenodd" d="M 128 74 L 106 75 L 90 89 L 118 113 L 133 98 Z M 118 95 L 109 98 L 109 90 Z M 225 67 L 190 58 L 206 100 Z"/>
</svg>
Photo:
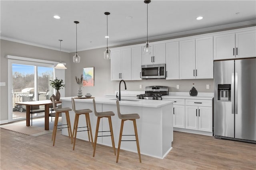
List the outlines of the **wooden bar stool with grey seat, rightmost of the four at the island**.
<svg viewBox="0 0 256 170">
<path fill-rule="evenodd" d="M 141 162 L 141 158 L 140 158 L 140 146 L 139 146 L 137 125 L 136 125 L 136 119 L 140 119 L 140 115 L 138 115 L 137 113 L 133 113 L 133 114 L 124 114 L 124 115 L 122 115 L 122 114 L 120 113 L 120 106 L 119 106 L 118 100 L 116 100 L 116 107 L 117 107 L 118 117 L 119 117 L 119 119 L 122 119 L 121 128 L 120 128 L 120 135 L 119 135 L 119 142 L 118 142 L 118 149 L 117 149 L 117 156 L 116 156 L 116 163 L 118 163 L 118 157 L 119 157 L 120 146 L 121 146 L 121 141 L 122 141 L 122 133 L 123 133 L 124 121 L 126 121 L 126 120 L 131 120 L 131 121 L 133 121 L 134 133 L 135 133 L 136 144 L 137 144 L 137 150 L 138 150 L 139 159 L 140 159 L 140 162 Z M 134 136 L 134 135 L 123 135 L 123 136 Z M 125 140 L 125 141 L 134 141 L 134 140 Z"/>
</svg>

